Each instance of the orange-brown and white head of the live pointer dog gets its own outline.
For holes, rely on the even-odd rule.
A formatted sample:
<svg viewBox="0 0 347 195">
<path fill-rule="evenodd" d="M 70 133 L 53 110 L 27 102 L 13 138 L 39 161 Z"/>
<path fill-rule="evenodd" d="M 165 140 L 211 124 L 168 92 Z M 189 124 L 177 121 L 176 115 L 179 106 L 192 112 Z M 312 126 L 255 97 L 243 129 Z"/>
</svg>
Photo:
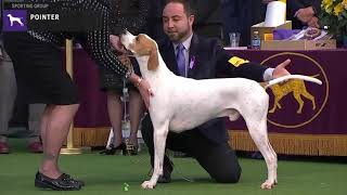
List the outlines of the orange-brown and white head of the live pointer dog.
<svg viewBox="0 0 347 195">
<path fill-rule="evenodd" d="M 139 34 L 133 36 L 126 31 L 120 35 L 120 42 L 133 53 L 138 61 L 143 56 L 147 57 L 146 65 L 149 70 L 154 70 L 158 67 L 158 46 L 147 35 Z M 139 65 L 141 66 L 141 63 Z"/>
</svg>

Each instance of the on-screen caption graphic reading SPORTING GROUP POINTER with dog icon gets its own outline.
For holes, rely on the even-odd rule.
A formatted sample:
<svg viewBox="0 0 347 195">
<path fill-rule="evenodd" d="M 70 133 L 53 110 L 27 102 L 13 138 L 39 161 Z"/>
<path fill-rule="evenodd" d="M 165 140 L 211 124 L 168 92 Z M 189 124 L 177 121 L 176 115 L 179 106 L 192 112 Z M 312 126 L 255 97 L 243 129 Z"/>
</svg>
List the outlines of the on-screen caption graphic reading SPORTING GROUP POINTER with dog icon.
<svg viewBox="0 0 347 195">
<path fill-rule="evenodd" d="M 4 0 L 1 2 L 3 31 L 47 30 L 81 31 L 102 27 L 101 12 L 89 10 L 63 9 L 56 2 L 28 2 Z M 78 3 L 78 2 L 77 2 Z M 63 5 L 64 6 L 64 5 Z"/>
</svg>

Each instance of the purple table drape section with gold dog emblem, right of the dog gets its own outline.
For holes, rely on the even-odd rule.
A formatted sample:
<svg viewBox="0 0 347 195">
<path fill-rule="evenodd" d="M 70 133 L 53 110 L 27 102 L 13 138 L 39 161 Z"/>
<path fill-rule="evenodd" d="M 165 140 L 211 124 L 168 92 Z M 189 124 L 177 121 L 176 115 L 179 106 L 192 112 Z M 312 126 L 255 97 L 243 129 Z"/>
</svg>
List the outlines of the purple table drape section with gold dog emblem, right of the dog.
<svg viewBox="0 0 347 195">
<path fill-rule="evenodd" d="M 270 102 L 268 131 L 305 134 L 347 134 L 347 50 L 325 51 L 230 51 L 234 55 L 275 67 L 286 58 L 291 74 L 322 80 L 319 86 L 292 80 L 267 90 Z M 227 121 L 229 129 L 245 130 L 243 119 Z"/>
</svg>

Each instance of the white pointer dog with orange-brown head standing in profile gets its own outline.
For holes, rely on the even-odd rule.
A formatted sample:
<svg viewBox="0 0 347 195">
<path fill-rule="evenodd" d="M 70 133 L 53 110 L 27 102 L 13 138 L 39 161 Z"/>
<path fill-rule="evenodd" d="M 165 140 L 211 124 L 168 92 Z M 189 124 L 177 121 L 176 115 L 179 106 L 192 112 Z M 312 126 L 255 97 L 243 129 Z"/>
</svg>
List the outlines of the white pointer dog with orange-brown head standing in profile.
<svg viewBox="0 0 347 195">
<path fill-rule="evenodd" d="M 149 108 L 154 127 L 154 171 L 151 180 L 142 183 L 143 188 L 153 188 L 163 173 L 169 130 L 182 132 L 213 118 L 227 116 L 235 120 L 240 115 L 268 167 L 268 179 L 261 187 L 271 188 L 278 182 L 277 154 L 267 131 L 269 95 L 258 82 L 244 78 L 195 80 L 179 77 L 167 68 L 156 42 L 149 36 L 133 36 L 127 31 L 120 36 L 120 41 L 133 53 L 154 93 Z M 322 83 L 316 78 L 291 75 L 271 80 L 268 87 L 291 78 Z"/>
</svg>

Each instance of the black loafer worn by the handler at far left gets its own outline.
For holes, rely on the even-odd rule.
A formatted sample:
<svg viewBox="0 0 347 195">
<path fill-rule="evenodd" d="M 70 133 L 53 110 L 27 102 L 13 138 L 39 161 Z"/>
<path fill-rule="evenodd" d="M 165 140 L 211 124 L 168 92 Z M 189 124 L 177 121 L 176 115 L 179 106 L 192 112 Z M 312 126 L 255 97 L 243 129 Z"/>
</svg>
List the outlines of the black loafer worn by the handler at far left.
<svg viewBox="0 0 347 195">
<path fill-rule="evenodd" d="M 35 186 L 53 191 L 79 191 L 81 185 L 68 174 L 62 174 L 57 179 L 49 178 L 40 172 L 36 173 Z"/>
</svg>

